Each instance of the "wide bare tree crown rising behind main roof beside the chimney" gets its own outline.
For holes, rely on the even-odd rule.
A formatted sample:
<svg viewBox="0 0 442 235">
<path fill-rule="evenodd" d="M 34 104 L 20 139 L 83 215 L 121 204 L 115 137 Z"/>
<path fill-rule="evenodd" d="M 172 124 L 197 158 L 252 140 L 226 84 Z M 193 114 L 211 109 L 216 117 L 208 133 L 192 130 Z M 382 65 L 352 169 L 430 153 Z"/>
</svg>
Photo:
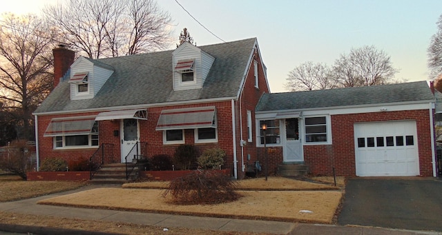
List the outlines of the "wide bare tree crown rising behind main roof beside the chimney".
<svg viewBox="0 0 442 235">
<path fill-rule="evenodd" d="M 46 6 L 44 14 L 63 32 L 59 41 L 93 59 L 150 52 L 171 42 L 171 17 L 154 0 L 69 0 Z"/>
</svg>

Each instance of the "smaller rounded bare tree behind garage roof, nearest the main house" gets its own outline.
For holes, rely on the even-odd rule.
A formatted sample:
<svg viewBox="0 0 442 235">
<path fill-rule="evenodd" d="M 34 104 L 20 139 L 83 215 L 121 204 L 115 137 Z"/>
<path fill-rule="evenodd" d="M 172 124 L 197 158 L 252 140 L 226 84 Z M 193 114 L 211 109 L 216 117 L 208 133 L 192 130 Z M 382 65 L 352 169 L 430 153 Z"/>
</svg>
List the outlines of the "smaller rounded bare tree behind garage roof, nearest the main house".
<svg viewBox="0 0 442 235">
<path fill-rule="evenodd" d="M 289 72 L 286 88 L 291 91 L 325 90 L 336 87 L 329 68 L 323 63 L 307 61 Z"/>
</svg>

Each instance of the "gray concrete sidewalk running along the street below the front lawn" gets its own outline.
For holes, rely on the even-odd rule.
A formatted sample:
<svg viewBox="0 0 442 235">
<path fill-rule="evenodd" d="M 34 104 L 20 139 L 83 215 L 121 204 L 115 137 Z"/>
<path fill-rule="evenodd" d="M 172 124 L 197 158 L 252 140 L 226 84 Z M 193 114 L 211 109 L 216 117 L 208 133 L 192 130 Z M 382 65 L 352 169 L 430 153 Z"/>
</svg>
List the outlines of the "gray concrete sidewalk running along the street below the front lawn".
<svg viewBox="0 0 442 235">
<path fill-rule="evenodd" d="M 376 227 L 350 227 L 334 225 L 314 225 L 303 223 L 287 223 L 278 221 L 253 221 L 233 218 L 213 218 L 198 216 L 180 216 L 172 214 L 155 214 L 144 212 L 123 212 L 116 210 L 96 210 L 76 207 L 58 207 L 51 205 L 37 205 L 42 199 L 90 190 L 97 187 L 121 187 L 90 185 L 81 187 L 79 190 L 61 192 L 29 198 L 21 201 L 0 203 L 0 210 L 20 214 L 35 214 L 46 216 L 59 216 L 64 218 L 81 218 L 99 221 L 114 221 L 123 223 L 135 223 L 140 225 L 154 225 L 162 228 L 189 227 L 195 229 L 209 229 L 226 232 L 262 232 L 269 234 L 439 234 L 442 232 L 421 232 L 398 229 L 384 229 Z M 19 232 L 27 234 L 104 234 L 102 232 L 85 232 L 70 229 L 54 229 L 38 226 L 5 225 L 0 223 L 0 231 Z M 0 232 L 1 234 L 1 232 Z"/>
</svg>

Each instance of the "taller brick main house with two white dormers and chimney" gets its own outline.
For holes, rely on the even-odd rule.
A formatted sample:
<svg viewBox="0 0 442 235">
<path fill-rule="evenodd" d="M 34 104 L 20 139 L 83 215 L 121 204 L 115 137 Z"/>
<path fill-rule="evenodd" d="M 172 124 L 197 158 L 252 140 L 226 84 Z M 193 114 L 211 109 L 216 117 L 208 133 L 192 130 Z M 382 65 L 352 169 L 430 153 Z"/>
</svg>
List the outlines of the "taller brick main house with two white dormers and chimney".
<svg viewBox="0 0 442 235">
<path fill-rule="evenodd" d="M 256 161 L 252 120 L 269 92 L 257 39 L 107 59 L 53 53 L 55 89 L 34 112 L 38 163 L 89 159 L 104 146 L 113 146 L 105 163 L 124 163 L 134 151 L 173 156 L 183 143 L 222 148 L 236 178 Z"/>
</svg>

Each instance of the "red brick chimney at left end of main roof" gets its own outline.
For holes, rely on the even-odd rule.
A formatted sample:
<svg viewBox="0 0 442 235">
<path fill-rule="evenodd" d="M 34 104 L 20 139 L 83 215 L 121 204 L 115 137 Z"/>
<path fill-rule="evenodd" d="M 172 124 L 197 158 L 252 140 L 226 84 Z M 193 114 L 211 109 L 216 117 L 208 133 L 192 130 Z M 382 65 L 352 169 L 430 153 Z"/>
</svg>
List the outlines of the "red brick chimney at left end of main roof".
<svg viewBox="0 0 442 235">
<path fill-rule="evenodd" d="M 69 50 L 66 45 L 59 45 L 52 49 L 54 54 L 54 88 L 60 83 L 61 78 L 68 72 L 70 65 L 74 63 L 75 52 Z"/>
</svg>

